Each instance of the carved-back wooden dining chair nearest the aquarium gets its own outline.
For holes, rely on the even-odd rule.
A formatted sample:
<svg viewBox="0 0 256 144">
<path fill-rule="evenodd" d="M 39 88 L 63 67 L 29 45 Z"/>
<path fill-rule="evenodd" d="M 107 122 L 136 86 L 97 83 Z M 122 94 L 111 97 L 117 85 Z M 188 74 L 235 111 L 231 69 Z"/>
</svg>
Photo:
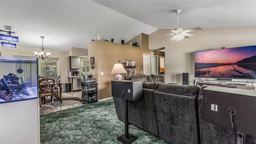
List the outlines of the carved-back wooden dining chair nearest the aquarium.
<svg viewBox="0 0 256 144">
<path fill-rule="evenodd" d="M 38 80 L 40 107 L 42 107 L 42 98 L 45 98 L 46 96 L 51 96 L 51 101 L 53 105 L 54 92 L 58 92 L 57 90 L 54 90 L 54 84 L 55 80 L 52 78 L 46 77 Z"/>
</svg>

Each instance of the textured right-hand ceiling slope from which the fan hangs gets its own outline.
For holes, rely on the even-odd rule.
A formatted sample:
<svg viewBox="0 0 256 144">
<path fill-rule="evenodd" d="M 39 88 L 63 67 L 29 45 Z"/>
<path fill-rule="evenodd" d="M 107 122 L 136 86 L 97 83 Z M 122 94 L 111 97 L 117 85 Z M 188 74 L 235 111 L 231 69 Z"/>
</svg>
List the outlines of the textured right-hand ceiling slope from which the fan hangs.
<svg viewBox="0 0 256 144">
<path fill-rule="evenodd" d="M 158 29 L 256 26 L 255 0 L 94 0 Z"/>
</svg>

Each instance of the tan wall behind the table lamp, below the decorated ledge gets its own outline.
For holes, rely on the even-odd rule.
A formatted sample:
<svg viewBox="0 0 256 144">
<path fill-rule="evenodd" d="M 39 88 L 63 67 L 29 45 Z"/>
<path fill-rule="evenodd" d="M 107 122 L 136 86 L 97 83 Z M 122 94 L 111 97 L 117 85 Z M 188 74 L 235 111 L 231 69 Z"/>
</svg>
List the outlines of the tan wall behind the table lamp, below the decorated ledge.
<svg viewBox="0 0 256 144">
<path fill-rule="evenodd" d="M 144 43 L 143 43 L 144 42 Z M 93 77 L 98 82 L 99 100 L 112 97 L 111 80 L 115 80 L 116 74 L 110 74 L 118 60 L 134 60 L 136 62 L 136 75 L 143 71 L 143 54 L 164 56 L 163 52 L 148 50 L 148 35 L 142 34 L 143 47 L 129 46 L 102 40 L 94 40 L 88 44 L 88 57 L 94 57 L 94 69 L 91 69 Z M 100 72 L 104 72 L 101 76 Z M 123 79 L 124 79 L 124 74 Z"/>
</svg>

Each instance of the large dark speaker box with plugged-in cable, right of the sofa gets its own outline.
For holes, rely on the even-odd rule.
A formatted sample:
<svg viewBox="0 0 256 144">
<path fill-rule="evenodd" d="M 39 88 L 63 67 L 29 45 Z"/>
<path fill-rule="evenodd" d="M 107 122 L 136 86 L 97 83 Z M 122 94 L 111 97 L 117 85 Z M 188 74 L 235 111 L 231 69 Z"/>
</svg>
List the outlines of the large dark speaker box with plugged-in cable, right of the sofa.
<svg viewBox="0 0 256 144">
<path fill-rule="evenodd" d="M 236 144 L 245 144 L 246 134 L 256 136 L 255 90 L 208 86 L 203 102 L 203 119 L 232 128 Z"/>
</svg>

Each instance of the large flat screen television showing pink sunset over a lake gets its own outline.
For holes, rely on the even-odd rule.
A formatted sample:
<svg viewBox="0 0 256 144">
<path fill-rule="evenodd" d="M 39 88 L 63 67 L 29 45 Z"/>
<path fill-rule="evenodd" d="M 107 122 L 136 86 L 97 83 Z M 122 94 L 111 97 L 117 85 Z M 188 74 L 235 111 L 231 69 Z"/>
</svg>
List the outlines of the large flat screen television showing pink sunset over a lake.
<svg viewBox="0 0 256 144">
<path fill-rule="evenodd" d="M 256 46 L 195 52 L 195 78 L 256 79 Z"/>
</svg>

